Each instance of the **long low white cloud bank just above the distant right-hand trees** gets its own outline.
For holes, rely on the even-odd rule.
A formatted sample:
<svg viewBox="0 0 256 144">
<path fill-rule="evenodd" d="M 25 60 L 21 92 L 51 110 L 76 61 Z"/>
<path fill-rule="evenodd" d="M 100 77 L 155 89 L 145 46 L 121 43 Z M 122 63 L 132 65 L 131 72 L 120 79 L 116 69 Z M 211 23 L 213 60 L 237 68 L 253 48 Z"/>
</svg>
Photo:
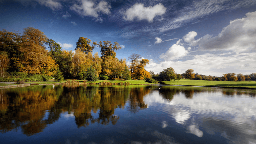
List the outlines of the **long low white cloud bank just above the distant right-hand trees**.
<svg viewBox="0 0 256 144">
<path fill-rule="evenodd" d="M 185 73 L 187 69 L 194 69 L 202 75 L 222 76 L 224 73 L 242 73 L 243 75 L 255 73 L 256 52 L 251 53 L 206 53 L 189 57 L 189 60 L 155 62 L 149 60 L 147 71 L 155 73 L 172 67 L 177 73 Z"/>
</svg>

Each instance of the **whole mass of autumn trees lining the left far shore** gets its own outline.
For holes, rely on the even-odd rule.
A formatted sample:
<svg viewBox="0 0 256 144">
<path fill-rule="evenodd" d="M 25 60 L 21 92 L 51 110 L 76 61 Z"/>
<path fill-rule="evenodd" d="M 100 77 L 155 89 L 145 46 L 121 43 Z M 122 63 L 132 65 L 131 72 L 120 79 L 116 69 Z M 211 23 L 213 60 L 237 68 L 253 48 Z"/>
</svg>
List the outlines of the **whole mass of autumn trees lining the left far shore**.
<svg viewBox="0 0 256 144">
<path fill-rule="evenodd" d="M 101 49 L 101 56 L 92 54 L 95 47 Z M 147 59 L 132 54 L 129 57 L 131 65 L 127 65 L 125 59 L 116 58 L 118 49 L 121 46 L 117 42 L 97 43 L 79 37 L 74 53 L 63 50 L 53 39 L 33 27 L 25 28 L 22 35 L 3 30 L 0 31 L 0 76 L 27 73 L 89 81 L 96 81 L 98 77 L 104 80 L 143 80 L 150 77 L 144 69 L 149 62 Z"/>
</svg>

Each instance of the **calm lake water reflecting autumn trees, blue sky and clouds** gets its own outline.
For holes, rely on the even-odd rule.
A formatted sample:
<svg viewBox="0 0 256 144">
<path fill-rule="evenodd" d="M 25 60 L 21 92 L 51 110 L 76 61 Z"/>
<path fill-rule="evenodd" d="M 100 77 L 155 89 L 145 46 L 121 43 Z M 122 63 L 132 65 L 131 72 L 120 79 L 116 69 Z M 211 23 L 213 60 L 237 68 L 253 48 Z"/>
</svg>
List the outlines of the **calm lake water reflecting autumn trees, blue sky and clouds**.
<svg viewBox="0 0 256 144">
<path fill-rule="evenodd" d="M 0 143 L 253 144 L 256 91 L 173 86 L 0 90 Z"/>
</svg>

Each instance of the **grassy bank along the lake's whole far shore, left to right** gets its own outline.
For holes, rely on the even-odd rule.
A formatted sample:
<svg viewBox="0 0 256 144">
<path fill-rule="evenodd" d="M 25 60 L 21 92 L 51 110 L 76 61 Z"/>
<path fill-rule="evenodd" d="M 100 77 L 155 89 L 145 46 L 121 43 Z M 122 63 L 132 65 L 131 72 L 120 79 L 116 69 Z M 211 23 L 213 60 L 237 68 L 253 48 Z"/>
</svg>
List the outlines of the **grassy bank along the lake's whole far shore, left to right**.
<svg viewBox="0 0 256 144">
<path fill-rule="evenodd" d="M 63 80 L 62 82 L 55 82 L 50 80 L 49 82 L 25 82 L 26 86 L 30 85 L 55 85 L 62 84 L 65 82 L 75 81 L 79 84 L 83 84 L 83 80 Z M 109 83 L 129 83 L 129 84 L 142 84 L 142 85 L 150 85 L 153 83 L 145 82 L 144 80 L 98 80 L 97 82 L 87 82 L 87 84 L 91 83 L 101 83 L 101 82 L 109 82 Z M 220 88 L 242 88 L 242 89 L 256 89 L 255 81 L 241 81 L 241 82 L 230 82 L 230 81 L 205 81 L 205 80 L 188 80 L 181 79 L 179 81 L 165 81 L 165 85 L 172 86 L 200 86 L 200 87 L 220 87 Z M 21 87 L 22 84 L 15 83 L 0 83 L 0 88 L 10 88 L 10 87 Z"/>
</svg>

